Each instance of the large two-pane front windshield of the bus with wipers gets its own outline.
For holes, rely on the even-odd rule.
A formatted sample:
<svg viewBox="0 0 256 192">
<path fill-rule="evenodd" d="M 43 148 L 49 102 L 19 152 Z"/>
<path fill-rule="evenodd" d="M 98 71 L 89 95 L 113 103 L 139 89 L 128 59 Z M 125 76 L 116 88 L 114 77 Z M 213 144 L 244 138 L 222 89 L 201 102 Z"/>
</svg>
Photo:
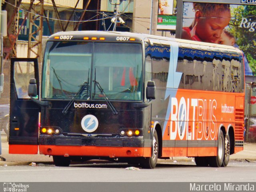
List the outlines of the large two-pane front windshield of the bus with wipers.
<svg viewBox="0 0 256 192">
<path fill-rule="evenodd" d="M 104 100 L 95 82 L 109 100 L 141 100 L 141 44 L 47 43 L 42 98 L 71 99 L 76 95 L 78 100 Z"/>
</svg>

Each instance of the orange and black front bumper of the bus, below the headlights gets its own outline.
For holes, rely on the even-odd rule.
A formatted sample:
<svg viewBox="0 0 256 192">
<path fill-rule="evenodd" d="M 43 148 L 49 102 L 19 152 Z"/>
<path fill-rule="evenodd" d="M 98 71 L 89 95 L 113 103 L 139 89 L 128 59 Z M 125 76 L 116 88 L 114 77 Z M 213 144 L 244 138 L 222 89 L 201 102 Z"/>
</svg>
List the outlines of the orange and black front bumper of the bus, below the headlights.
<svg viewBox="0 0 256 192">
<path fill-rule="evenodd" d="M 60 156 L 150 157 L 150 145 L 133 138 L 39 138 L 39 152 Z"/>
</svg>

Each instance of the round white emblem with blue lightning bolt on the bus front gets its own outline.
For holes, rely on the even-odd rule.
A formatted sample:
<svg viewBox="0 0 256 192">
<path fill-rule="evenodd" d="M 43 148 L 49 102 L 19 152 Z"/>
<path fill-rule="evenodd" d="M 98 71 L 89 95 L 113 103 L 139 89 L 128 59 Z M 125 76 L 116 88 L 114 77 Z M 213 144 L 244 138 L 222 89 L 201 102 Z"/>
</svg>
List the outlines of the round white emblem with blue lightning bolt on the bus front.
<svg viewBox="0 0 256 192">
<path fill-rule="evenodd" d="M 94 115 L 86 115 L 82 118 L 81 126 L 86 132 L 94 132 L 98 128 L 99 122 Z"/>
</svg>

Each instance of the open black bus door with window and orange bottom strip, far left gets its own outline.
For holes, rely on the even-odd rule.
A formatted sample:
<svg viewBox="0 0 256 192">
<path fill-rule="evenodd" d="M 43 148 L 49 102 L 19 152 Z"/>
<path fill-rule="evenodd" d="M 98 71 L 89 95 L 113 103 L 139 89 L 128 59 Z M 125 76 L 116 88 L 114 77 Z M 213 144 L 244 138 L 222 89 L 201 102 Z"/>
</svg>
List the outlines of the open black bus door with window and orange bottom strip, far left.
<svg viewBox="0 0 256 192">
<path fill-rule="evenodd" d="M 36 79 L 39 96 L 37 58 L 12 58 L 10 74 L 10 154 L 38 153 L 38 122 L 40 106 L 30 100 L 28 84 Z"/>
</svg>

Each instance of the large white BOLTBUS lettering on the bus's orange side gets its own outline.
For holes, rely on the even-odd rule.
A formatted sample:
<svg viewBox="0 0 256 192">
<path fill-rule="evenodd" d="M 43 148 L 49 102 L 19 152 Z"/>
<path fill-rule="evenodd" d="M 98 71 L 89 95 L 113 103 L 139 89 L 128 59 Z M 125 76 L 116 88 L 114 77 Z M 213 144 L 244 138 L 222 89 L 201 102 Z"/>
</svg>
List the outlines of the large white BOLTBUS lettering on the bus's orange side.
<svg viewBox="0 0 256 192">
<path fill-rule="evenodd" d="M 191 101 L 190 101 L 191 100 Z M 190 114 L 190 107 L 192 107 L 192 114 Z M 216 116 L 214 112 L 217 108 L 216 100 L 202 100 L 202 99 L 187 99 L 180 98 L 178 102 L 177 98 L 171 98 L 171 114 L 170 114 L 170 139 L 184 138 L 187 140 L 195 139 L 195 128 L 198 128 L 197 139 L 214 140 L 216 134 Z M 192 135 L 188 136 L 188 124 L 192 121 Z M 198 119 L 196 126 L 195 120 Z"/>
</svg>

